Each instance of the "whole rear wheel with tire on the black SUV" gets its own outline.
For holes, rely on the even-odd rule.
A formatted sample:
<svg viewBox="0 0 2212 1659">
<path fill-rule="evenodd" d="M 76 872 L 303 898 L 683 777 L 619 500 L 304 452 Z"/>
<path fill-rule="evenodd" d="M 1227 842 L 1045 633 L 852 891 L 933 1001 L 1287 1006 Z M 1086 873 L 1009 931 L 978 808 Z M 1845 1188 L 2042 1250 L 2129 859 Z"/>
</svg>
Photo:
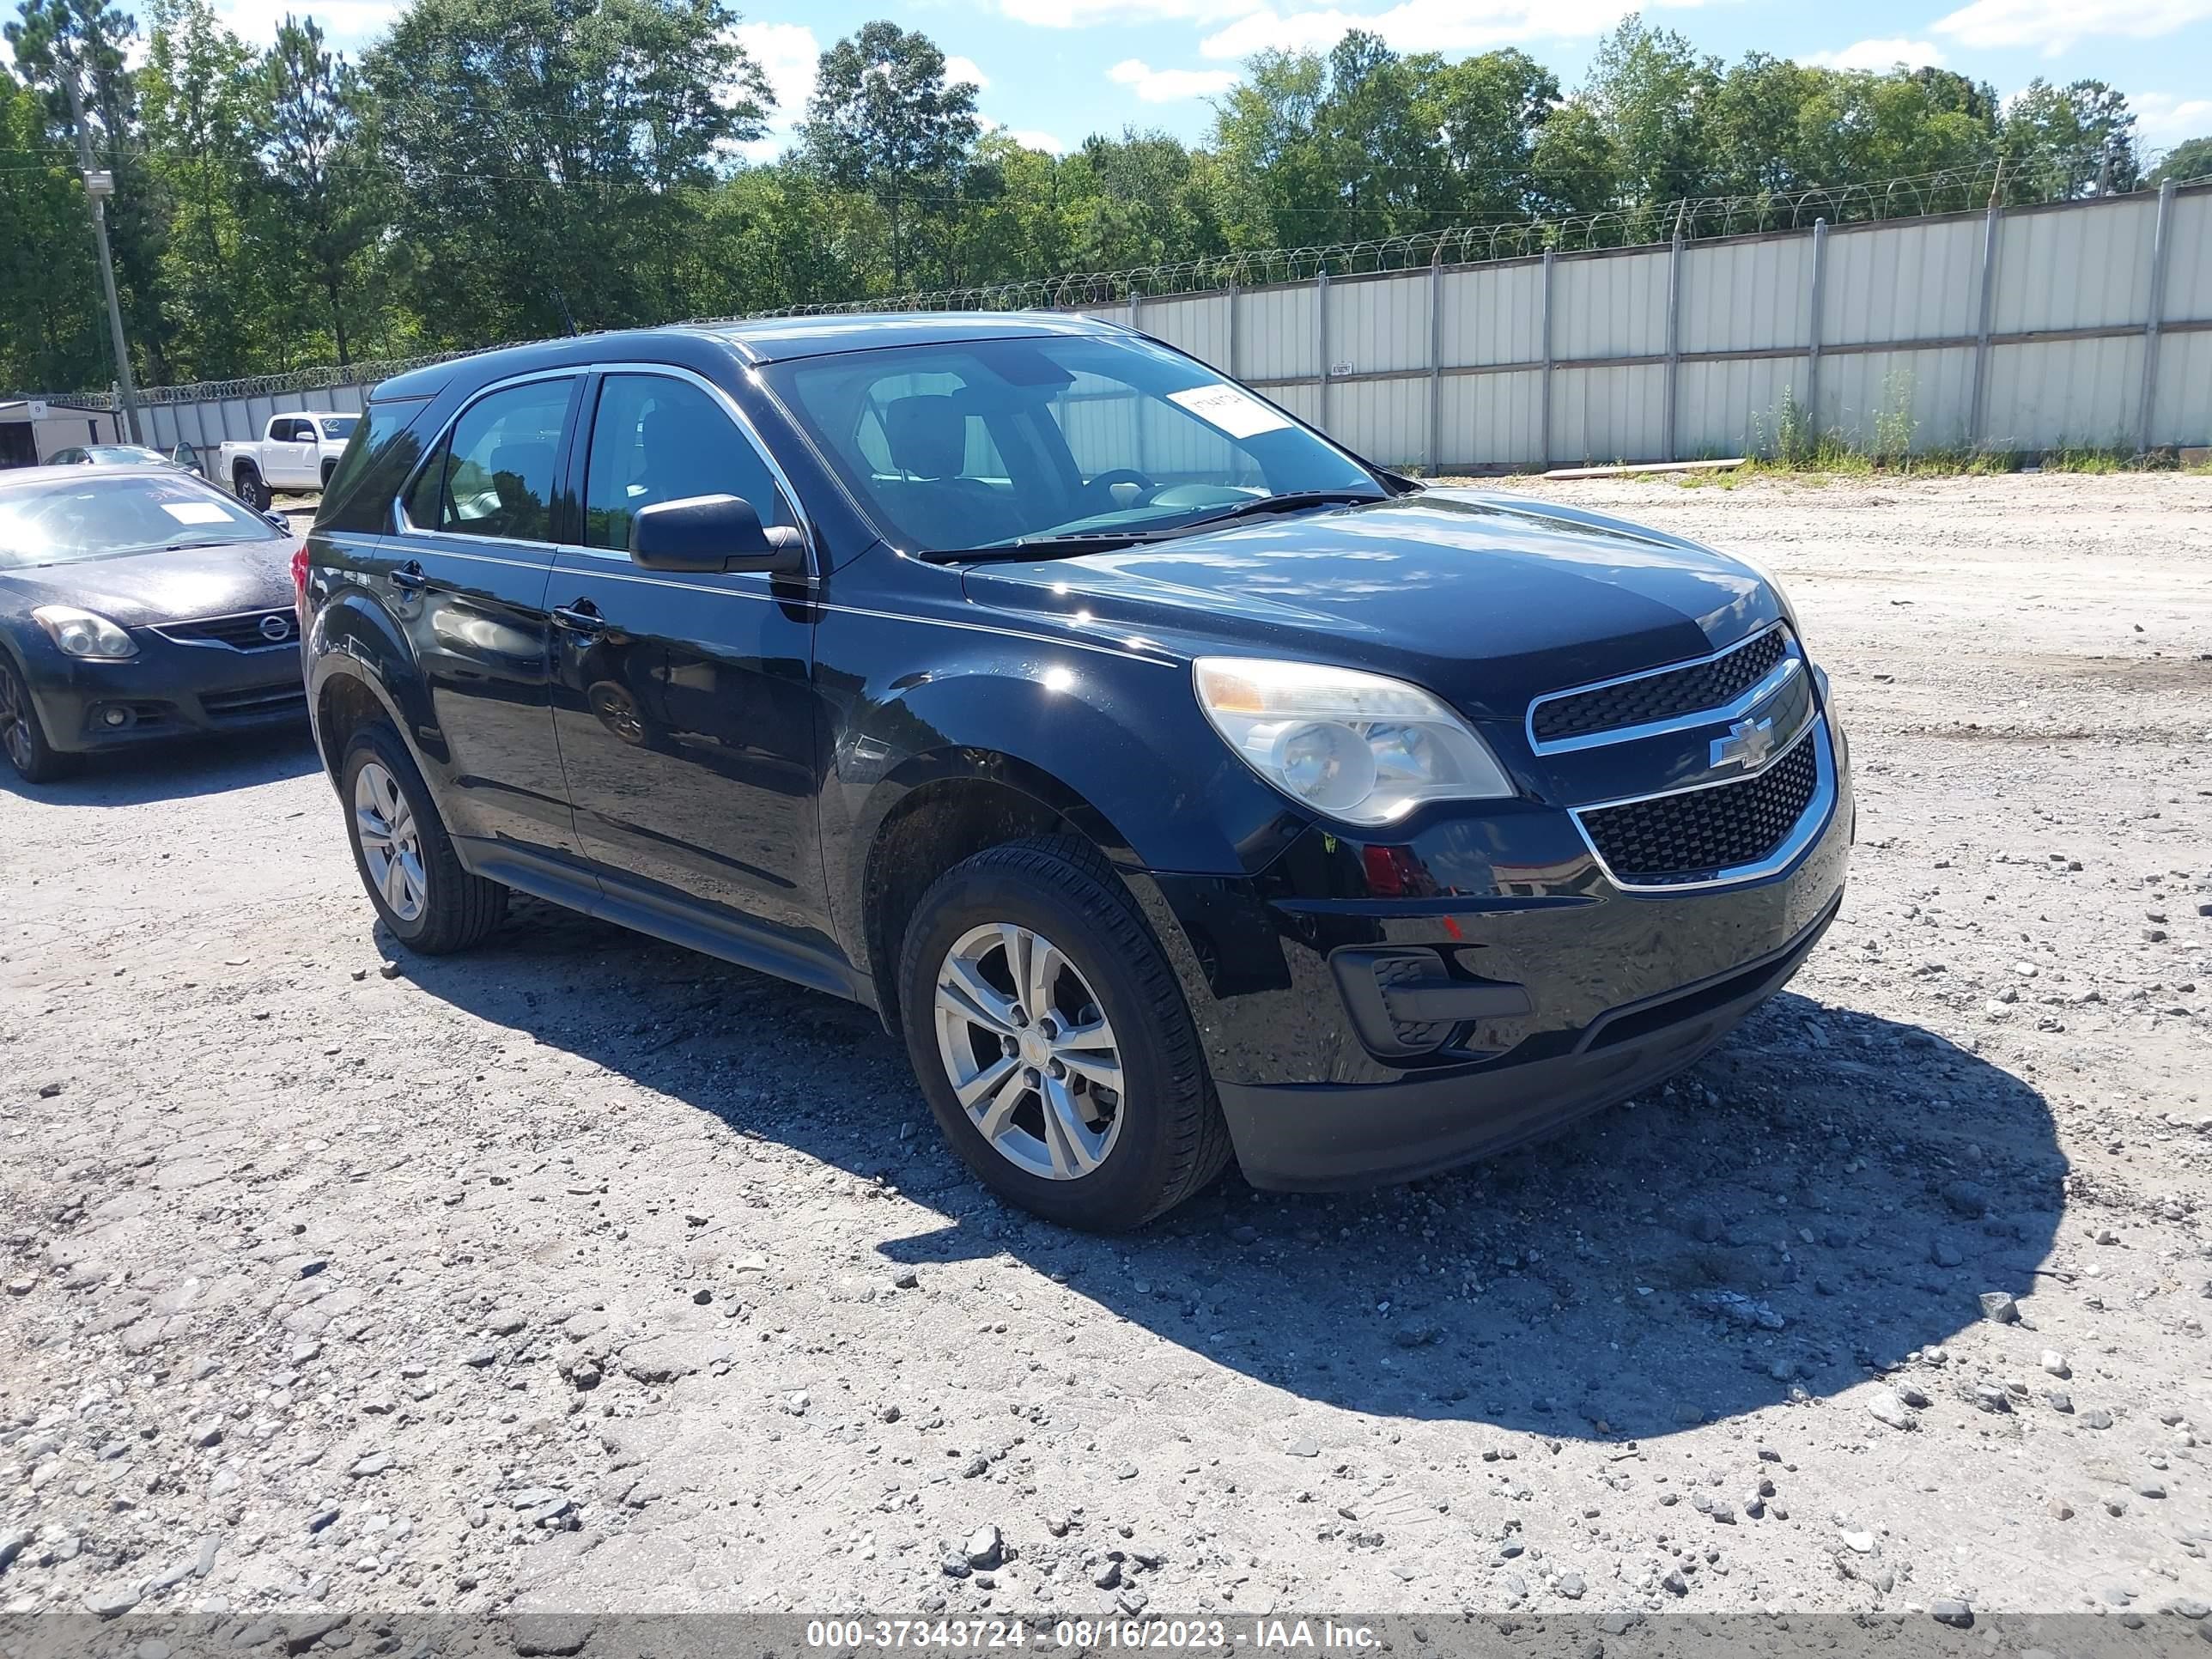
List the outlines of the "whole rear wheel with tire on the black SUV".
<svg viewBox="0 0 2212 1659">
<path fill-rule="evenodd" d="M 392 810 L 394 794 L 405 816 Z M 338 799 L 361 885 L 376 918 L 409 951 L 465 951 L 507 916 L 507 889 L 462 869 L 429 785 L 392 728 L 363 726 L 354 732 L 338 765 Z M 389 841 L 367 834 L 365 807 L 396 832 Z"/>
</svg>

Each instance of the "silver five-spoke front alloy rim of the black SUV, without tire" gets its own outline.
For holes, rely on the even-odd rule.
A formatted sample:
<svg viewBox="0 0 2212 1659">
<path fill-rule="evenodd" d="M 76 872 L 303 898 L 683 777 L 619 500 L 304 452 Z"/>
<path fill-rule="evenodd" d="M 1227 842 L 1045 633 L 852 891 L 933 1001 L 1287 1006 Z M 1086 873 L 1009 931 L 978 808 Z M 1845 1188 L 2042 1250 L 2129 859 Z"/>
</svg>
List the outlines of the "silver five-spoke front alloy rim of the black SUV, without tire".
<svg viewBox="0 0 2212 1659">
<path fill-rule="evenodd" d="M 1121 1051 L 1088 980 L 1042 933 L 973 927 L 936 982 L 938 1055 L 991 1148 L 1046 1181 L 1091 1175 L 1121 1133 Z"/>
</svg>

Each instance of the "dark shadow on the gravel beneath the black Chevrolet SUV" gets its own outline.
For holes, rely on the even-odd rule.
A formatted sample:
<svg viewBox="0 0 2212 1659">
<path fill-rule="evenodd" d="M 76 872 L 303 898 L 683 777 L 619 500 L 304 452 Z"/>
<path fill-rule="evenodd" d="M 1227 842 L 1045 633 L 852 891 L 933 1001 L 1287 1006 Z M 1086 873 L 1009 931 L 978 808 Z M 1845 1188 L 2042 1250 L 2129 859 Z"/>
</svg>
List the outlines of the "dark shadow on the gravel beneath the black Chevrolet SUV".
<svg viewBox="0 0 2212 1659">
<path fill-rule="evenodd" d="M 398 956 L 396 947 L 385 949 Z M 1469 1170 L 1276 1197 L 1234 1170 L 1099 1241 L 1000 1206 L 867 1011 L 535 902 L 425 991 L 907 1206 L 887 1263 L 1013 1259 L 1170 1343 L 1354 1411 L 1650 1438 L 1792 1398 L 2026 1296 L 2066 1161 L 2042 1095 L 1911 1024 L 1783 993 L 1639 1102 Z"/>
</svg>

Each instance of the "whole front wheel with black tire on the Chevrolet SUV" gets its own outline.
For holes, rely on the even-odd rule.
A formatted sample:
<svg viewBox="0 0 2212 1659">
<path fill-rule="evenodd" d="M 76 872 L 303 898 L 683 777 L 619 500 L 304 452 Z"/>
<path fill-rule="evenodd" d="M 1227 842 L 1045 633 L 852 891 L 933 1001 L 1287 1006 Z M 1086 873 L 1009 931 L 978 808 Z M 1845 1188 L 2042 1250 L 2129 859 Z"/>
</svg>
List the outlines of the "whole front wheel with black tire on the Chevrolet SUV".
<svg viewBox="0 0 2212 1659">
<path fill-rule="evenodd" d="M 1029 967 L 1044 964 L 1051 989 L 1033 978 L 1026 1002 L 1046 1009 L 1009 995 L 1020 973 L 1009 927 L 1031 940 L 1020 947 Z M 960 987 L 949 1004 L 940 978 Z M 907 925 L 898 991 L 907 1057 L 938 1128 L 1009 1203 L 1124 1232 L 1228 1164 L 1228 1124 L 1183 991 L 1137 900 L 1086 843 L 1013 841 L 940 876 Z"/>
</svg>

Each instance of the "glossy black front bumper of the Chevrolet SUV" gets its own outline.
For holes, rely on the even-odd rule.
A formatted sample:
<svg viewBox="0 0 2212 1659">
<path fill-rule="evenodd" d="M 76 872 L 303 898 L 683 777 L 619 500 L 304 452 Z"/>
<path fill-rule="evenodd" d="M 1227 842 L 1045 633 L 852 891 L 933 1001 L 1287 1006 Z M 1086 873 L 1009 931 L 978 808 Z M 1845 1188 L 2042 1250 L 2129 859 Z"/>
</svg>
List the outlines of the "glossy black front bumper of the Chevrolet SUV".
<svg viewBox="0 0 2212 1659">
<path fill-rule="evenodd" d="M 1409 845 L 1307 830 L 1248 880 L 1137 878 L 1245 1177 L 1329 1190 L 1431 1175 L 1694 1062 L 1836 916 L 1856 807 L 1832 759 L 1825 812 L 1747 880 L 1626 891 L 1571 814 L 1524 803 Z M 1436 967 L 1394 1009 L 1433 1024 L 1378 1022 L 1371 989 L 1363 1006 L 1371 964 L 1402 956 Z M 1407 1031 L 1433 1046 L 1396 1051 Z"/>
</svg>

